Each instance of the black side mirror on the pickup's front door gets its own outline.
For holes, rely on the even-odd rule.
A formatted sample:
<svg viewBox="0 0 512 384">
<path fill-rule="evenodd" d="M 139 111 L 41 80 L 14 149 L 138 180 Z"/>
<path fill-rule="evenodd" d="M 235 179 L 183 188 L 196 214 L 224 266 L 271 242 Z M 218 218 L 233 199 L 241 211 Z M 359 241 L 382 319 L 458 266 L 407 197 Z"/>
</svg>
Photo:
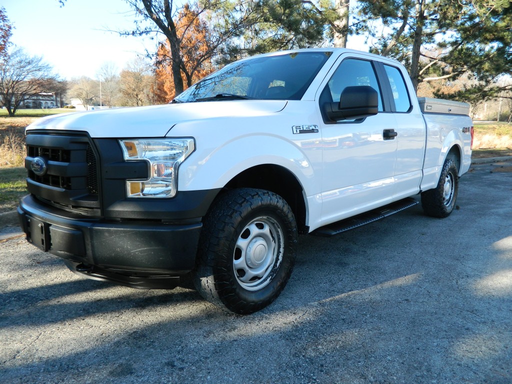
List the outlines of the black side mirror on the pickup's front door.
<svg viewBox="0 0 512 384">
<path fill-rule="evenodd" d="M 378 94 L 372 87 L 347 87 L 339 103 L 325 103 L 324 110 L 332 121 L 352 120 L 376 115 L 378 105 Z"/>
</svg>

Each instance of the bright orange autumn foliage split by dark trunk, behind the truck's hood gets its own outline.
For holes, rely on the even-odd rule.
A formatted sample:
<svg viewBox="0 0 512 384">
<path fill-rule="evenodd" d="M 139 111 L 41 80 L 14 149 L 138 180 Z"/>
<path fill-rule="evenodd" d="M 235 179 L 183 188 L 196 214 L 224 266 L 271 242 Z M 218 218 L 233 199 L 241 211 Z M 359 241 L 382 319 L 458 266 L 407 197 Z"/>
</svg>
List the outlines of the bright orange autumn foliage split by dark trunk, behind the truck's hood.
<svg viewBox="0 0 512 384">
<path fill-rule="evenodd" d="M 197 11 L 188 4 L 178 14 L 176 31 L 181 39 L 182 56 L 181 76 L 184 88 L 187 89 L 204 76 L 213 72 L 208 51 L 208 28 L 198 17 Z M 208 57 L 207 59 L 205 59 Z M 157 51 L 155 101 L 167 103 L 176 95 L 173 74 L 171 71 L 172 55 L 169 41 L 161 42 Z"/>
</svg>

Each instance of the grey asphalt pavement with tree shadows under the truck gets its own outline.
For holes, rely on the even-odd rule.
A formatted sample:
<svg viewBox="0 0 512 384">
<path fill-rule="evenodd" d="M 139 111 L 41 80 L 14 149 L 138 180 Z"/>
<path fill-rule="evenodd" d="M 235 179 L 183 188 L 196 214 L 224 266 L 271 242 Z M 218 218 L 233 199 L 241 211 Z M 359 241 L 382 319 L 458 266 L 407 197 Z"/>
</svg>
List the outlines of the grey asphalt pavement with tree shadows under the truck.
<svg viewBox="0 0 512 384">
<path fill-rule="evenodd" d="M 474 165 L 446 219 L 415 206 L 301 237 L 284 292 L 248 316 L 80 278 L 11 235 L 0 382 L 511 383 L 511 217 L 512 162 Z"/>
</svg>

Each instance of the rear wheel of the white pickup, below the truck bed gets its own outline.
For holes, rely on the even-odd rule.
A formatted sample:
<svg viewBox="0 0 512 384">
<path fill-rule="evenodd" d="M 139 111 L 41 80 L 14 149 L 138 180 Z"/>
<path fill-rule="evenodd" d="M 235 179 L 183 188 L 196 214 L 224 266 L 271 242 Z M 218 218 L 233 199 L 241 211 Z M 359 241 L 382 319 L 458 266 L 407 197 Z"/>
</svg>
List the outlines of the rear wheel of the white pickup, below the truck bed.
<svg viewBox="0 0 512 384">
<path fill-rule="evenodd" d="M 437 186 L 421 193 L 421 206 L 425 214 L 437 218 L 450 216 L 455 207 L 458 189 L 457 165 L 452 159 L 446 159 Z"/>
</svg>

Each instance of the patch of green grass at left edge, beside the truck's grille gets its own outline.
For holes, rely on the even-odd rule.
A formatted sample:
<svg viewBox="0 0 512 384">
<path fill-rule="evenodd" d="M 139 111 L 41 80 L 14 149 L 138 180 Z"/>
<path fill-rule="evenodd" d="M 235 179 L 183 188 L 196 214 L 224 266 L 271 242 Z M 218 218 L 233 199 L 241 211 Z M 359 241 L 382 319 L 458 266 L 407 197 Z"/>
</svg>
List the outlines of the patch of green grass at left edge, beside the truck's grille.
<svg viewBox="0 0 512 384">
<path fill-rule="evenodd" d="M 28 194 L 26 178 L 24 167 L 0 168 L 0 213 L 15 209 L 19 198 Z"/>
</svg>

